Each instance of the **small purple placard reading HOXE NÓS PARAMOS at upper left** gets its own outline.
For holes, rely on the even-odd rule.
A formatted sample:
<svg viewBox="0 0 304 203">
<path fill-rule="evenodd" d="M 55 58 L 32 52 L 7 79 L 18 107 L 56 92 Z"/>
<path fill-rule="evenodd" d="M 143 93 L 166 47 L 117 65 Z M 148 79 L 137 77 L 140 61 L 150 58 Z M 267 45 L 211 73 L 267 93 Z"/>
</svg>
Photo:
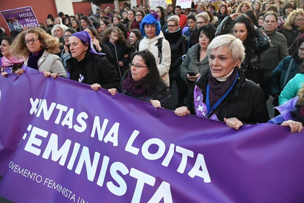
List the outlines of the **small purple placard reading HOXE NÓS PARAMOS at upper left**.
<svg viewBox="0 0 304 203">
<path fill-rule="evenodd" d="M 39 26 L 31 6 L 1 11 L 1 14 L 11 32 L 21 30 L 25 26 L 28 28 Z"/>
</svg>

